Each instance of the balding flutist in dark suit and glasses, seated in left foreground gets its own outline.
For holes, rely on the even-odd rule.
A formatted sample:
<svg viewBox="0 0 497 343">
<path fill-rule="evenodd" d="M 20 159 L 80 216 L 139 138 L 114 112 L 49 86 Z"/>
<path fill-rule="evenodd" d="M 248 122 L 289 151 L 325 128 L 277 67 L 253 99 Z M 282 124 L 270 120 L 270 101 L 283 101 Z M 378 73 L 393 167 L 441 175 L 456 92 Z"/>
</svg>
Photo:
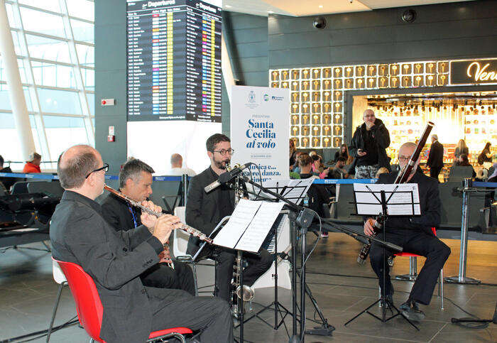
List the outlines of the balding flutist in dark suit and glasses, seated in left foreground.
<svg viewBox="0 0 497 343">
<path fill-rule="evenodd" d="M 50 225 L 53 257 L 77 263 L 97 286 L 104 308 L 99 336 L 135 343 L 145 342 L 152 331 L 189 327 L 202 330 L 202 342 L 232 342 L 233 322 L 224 300 L 143 286 L 138 276 L 158 263 L 163 244 L 181 224 L 178 217 L 143 213 L 141 226 L 116 232 L 94 201 L 104 190 L 108 168 L 91 146 L 62 153 L 58 175 L 65 192 Z M 142 205 L 161 210 L 152 202 Z"/>
</svg>

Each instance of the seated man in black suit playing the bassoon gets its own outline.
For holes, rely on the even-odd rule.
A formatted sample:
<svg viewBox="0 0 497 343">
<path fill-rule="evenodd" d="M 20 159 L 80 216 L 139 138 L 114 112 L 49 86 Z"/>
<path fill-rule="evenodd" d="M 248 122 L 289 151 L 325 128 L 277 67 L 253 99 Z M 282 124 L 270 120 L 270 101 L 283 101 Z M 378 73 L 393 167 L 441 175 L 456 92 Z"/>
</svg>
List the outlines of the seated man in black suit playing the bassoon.
<svg viewBox="0 0 497 343">
<path fill-rule="evenodd" d="M 416 149 L 415 143 L 404 143 L 400 146 L 398 160 L 400 170 L 405 168 L 410 156 Z M 410 320 L 420 321 L 425 318 L 418 303 L 430 304 L 433 290 L 437 284 L 440 269 L 450 255 L 450 249 L 432 232 L 432 227 L 440 223 L 440 197 L 438 183 L 417 171 L 419 159 L 414 165 L 413 173 L 410 174 L 407 183 L 417 183 L 420 193 L 420 216 L 389 217 L 385 224 L 386 237 L 383 233 L 378 235 L 379 239 L 392 242 L 403 247 L 403 251 L 425 256 L 425 266 L 417 276 L 408 300 L 400 305 L 400 311 Z M 378 183 L 393 183 L 397 173 L 381 174 Z M 369 218 L 364 224 L 364 233 L 371 236 L 375 219 Z M 393 256 L 394 252 L 385 249 L 386 258 Z M 380 287 L 383 285 L 383 246 L 373 242 L 369 254 L 373 271 L 379 278 Z M 386 290 L 385 294 L 392 301 L 393 285 L 391 283 L 389 266 L 386 263 Z"/>
</svg>

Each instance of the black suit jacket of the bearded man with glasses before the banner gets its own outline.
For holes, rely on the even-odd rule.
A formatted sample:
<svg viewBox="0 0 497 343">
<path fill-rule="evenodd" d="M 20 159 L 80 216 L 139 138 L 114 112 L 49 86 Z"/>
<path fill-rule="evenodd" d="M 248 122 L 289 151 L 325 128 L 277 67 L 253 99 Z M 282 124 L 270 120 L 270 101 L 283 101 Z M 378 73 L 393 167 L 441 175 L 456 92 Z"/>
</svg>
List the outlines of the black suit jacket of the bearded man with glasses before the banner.
<svg viewBox="0 0 497 343">
<path fill-rule="evenodd" d="M 188 187 L 186 223 L 207 235 L 211 234 L 222 219 L 222 214 L 219 212 L 219 197 L 229 197 L 231 204 L 234 204 L 234 191 L 226 185 L 221 185 L 209 193 L 204 191 L 204 187 L 216 181 L 217 178 L 218 175 L 209 167 L 194 176 Z M 190 236 L 188 254 L 195 254 L 199 243 L 199 239 Z"/>
</svg>

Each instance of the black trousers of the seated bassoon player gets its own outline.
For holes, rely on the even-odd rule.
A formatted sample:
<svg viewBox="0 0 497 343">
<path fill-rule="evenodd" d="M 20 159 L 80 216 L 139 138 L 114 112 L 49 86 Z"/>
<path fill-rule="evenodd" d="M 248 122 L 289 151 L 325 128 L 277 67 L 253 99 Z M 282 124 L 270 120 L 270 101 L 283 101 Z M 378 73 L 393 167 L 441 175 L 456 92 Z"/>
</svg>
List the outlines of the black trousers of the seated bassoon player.
<svg viewBox="0 0 497 343">
<path fill-rule="evenodd" d="M 410 292 L 410 298 L 424 305 L 430 304 L 433 290 L 437 285 L 437 278 L 445 261 L 450 255 L 450 248 L 432 234 L 423 231 L 396 229 L 378 235 L 379 239 L 402 246 L 405 252 L 425 256 L 425 266 L 422 267 Z M 394 251 L 385 249 L 385 257 L 392 256 Z M 380 287 L 383 286 L 383 246 L 373 242 L 369 253 L 371 267 L 379 278 Z M 390 279 L 390 268 L 386 263 L 386 289 L 385 294 L 393 294 Z"/>
</svg>

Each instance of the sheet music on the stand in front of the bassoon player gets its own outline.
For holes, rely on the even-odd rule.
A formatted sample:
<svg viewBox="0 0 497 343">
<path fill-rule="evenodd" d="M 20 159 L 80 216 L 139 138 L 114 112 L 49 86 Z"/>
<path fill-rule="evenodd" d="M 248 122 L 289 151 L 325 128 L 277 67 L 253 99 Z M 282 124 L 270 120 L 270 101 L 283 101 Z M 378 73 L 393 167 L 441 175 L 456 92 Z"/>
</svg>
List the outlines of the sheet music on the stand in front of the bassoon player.
<svg viewBox="0 0 497 343">
<path fill-rule="evenodd" d="M 369 192 L 368 188 L 374 193 L 374 195 Z M 421 214 L 420 195 L 417 188 L 417 183 L 400 183 L 389 185 L 366 185 L 364 183 L 354 183 L 356 202 L 358 202 L 357 214 L 380 214 L 382 212 L 381 190 L 385 191 L 386 200 L 390 198 L 387 204 L 388 215 L 395 216 Z M 392 195 L 393 190 L 395 190 L 395 192 Z M 411 197 L 411 192 L 413 197 Z"/>
</svg>

